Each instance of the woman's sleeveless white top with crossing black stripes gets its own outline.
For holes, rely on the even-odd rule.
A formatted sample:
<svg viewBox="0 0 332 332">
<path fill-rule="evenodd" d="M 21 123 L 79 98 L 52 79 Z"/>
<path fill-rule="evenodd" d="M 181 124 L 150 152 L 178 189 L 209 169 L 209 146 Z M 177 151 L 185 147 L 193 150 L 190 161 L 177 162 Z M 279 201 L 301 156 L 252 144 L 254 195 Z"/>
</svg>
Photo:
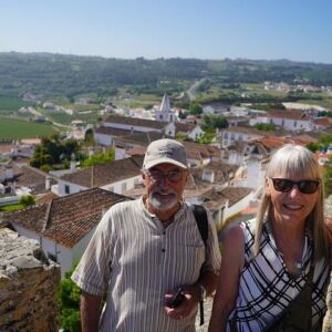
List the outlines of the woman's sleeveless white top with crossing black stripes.
<svg viewBox="0 0 332 332">
<path fill-rule="evenodd" d="M 261 247 L 257 257 L 252 256 L 255 220 L 243 222 L 245 267 L 240 276 L 239 293 L 230 320 L 236 317 L 238 331 L 262 331 L 299 294 L 305 284 L 313 255 L 313 241 L 309 232 L 302 253 L 302 272 L 292 277 L 277 249 L 269 222 L 263 226 Z M 321 259 L 314 266 L 312 290 L 312 325 L 315 325 L 326 310 L 325 294 L 329 283 L 329 264 Z M 230 322 L 229 320 L 229 322 Z M 230 331 L 229 324 L 227 331 Z"/>
</svg>

